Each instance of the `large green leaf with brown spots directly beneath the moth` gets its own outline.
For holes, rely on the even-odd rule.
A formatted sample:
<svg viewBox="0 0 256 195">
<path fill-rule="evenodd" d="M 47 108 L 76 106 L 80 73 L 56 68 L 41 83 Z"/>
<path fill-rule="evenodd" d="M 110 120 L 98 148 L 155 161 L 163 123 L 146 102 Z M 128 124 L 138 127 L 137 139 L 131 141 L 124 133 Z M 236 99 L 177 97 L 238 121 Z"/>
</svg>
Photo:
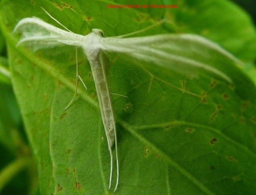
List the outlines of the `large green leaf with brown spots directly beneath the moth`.
<svg viewBox="0 0 256 195">
<path fill-rule="evenodd" d="M 232 7 L 225 2 L 227 10 Z M 150 1 L 143 3 L 149 5 Z M 79 72 L 88 90 L 80 85 L 75 101 L 64 111 L 75 90 L 75 49 L 32 53 L 16 48 L 18 39 L 11 34 L 15 24 L 24 17 L 36 16 L 58 26 L 41 10 L 42 6 L 79 34 L 87 34 L 92 28 L 103 29 L 106 36 L 126 34 L 166 17 L 174 25 L 165 23 L 143 35 L 160 34 L 184 32 L 184 26 L 189 25 L 183 20 L 183 28 L 180 27 L 184 16 L 179 11 L 184 11 L 186 5 L 198 9 L 189 1 L 179 1 L 179 9 L 167 11 L 107 9 L 106 4 L 116 3 L 1 2 L 0 23 L 8 43 L 12 83 L 38 161 L 42 194 L 107 194 L 110 158 L 96 89 L 84 54 L 79 51 Z M 236 13 L 240 14 L 240 10 Z M 231 21 L 237 25 L 236 20 Z M 249 24 L 246 27 L 252 29 Z M 190 32 L 195 31 L 191 28 Z M 253 194 L 255 85 L 237 67 L 239 61 L 234 57 L 193 41 L 191 47 L 183 44 L 177 54 L 197 53 L 197 59 L 209 60 L 233 83 L 207 75 L 188 77 L 157 66 L 142 69 L 132 60 L 110 55 L 111 91 L 119 94 L 113 95 L 120 161 L 116 194 Z"/>
</svg>

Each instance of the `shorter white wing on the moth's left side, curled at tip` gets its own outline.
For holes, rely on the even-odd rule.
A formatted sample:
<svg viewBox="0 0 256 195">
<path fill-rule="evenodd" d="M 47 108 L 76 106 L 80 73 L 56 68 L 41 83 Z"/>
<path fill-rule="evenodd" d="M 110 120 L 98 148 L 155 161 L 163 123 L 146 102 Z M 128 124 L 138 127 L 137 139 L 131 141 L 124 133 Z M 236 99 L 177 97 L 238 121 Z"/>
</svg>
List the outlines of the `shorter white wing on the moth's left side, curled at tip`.
<svg viewBox="0 0 256 195">
<path fill-rule="evenodd" d="M 20 20 L 13 32 L 22 34 L 17 45 L 29 46 L 33 51 L 64 45 L 81 46 L 84 37 L 59 29 L 37 17 Z"/>
</svg>

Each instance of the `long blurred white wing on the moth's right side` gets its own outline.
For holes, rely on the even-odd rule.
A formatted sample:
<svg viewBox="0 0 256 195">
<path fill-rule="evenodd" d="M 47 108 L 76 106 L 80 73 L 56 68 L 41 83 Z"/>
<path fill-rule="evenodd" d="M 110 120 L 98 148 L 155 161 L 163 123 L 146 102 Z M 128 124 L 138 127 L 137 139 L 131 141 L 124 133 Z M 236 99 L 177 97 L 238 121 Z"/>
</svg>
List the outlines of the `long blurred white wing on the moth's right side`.
<svg viewBox="0 0 256 195">
<path fill-rule="evenodd" d="M 226 74 L 228 69 L 226 71 L 224 64 L 216 63 L 215 55 L 212 54 L 236 60 L 217 44 L 192 34 L 163 34 L 131 38 L 106 37 L 102 40 L 102 49 L 122 53 L 183 74 L 206 73 L 217 79 L 224 79 L 228 83 L 232 82 Z"/>
</svg>

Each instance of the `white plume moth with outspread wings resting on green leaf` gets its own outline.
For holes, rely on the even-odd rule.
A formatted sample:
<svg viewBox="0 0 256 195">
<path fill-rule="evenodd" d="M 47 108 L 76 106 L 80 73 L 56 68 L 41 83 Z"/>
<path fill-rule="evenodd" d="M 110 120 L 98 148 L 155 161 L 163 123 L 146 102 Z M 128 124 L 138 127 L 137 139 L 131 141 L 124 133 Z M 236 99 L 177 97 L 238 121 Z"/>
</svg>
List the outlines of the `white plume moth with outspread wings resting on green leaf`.
<svg viewBox="0 0 256 195">
<path fill-rule="evenodd" d="M 50 17 L 54 19 L 52 16 Z M 57 20 L 55 21 L 59 23 Z M 61 23 L 59 24 L 61 25 Z M 133 59 L 144 61 L 145 63 L 154 63 L 157 66 L 173 69 L 182 73 L 194 72 L 194 74 L 196 74 L 198 71 L 204 71 L 222 80 L 226 80 L 228 83 L 231 83 L 230 77 L 225 75 L 220 70 L 205 63 L 201 63 L 200 61 L 180 57 L 169 52 L 169 49 L 172 48 L 172 42 L 175 40 L 195 40 L 206 43 L 209 47 L 223 52 L 220 47 L 199 36 L 191 34 L 160 34 L 147 37 L 129 38 L 124 38 L 127 35 L 118 37 L 104 37 L 104 34 L 100 29 L 93 29 L 90 34 L 84 36 L 73 33 L 66 27 L 64 28 L 67 31 L 52 26 L 51 24 L 48 24 L 37 17 L 29 17 L 20 20 L 15 26 L 14 32 L 22 33 L 22 37 L 17 45 L 29 45 L 32 46 L 34 50 L 47 49 L 63 45 L 76 46 L 83 49 L 93 73 L 102 121 L 108 140 L 108 149 L 111 156 L 109 189 L 111 187 L 113 170 L 113 154 L 111 150 L 113 143 L 115 143 L 116 147 L 117 176 L 114 192 L 117 189 L 119 181 L 119 163 L 115 116 L 111 99 L 111 90 L 108 83 L 108 60 L 105 60 L 107 57 L 105 54 L 106 52 L 126 54 Z M 170 66 L 170 62 L 172 61 L 176 62 L 176 66 Z M 77 73 L 77 79 L 78 78 L 80 77 Z"/>
</svg>

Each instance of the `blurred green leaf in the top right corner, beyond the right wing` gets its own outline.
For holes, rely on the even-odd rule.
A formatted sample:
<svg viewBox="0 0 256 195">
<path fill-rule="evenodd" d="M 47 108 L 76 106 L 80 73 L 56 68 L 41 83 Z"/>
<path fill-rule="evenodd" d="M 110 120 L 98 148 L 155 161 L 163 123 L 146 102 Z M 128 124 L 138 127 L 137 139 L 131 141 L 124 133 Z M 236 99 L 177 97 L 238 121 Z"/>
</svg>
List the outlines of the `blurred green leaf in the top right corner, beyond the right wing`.
<svg viewBox="0 0 256 195">
<path fill-rule="evenodd" d="M 164 1 L 166 4 L 168 0 Z M 182 32 L 214 40 L 241 60 L 256 57 L 256 30 L 249 15 L 228 0 L 174 0 L 170 11 Z"/>
</svg>

